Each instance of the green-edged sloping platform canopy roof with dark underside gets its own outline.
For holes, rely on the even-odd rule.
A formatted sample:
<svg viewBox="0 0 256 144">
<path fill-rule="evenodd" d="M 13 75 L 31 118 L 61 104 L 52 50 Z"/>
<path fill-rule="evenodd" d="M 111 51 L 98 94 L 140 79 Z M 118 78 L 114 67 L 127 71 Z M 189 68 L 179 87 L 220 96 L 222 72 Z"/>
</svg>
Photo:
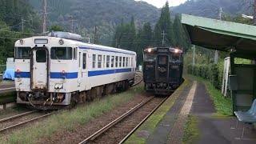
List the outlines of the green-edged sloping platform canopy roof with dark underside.
<svg viewBox="0 0 256 144">
<path fill-rule="evenodd" d="M 256 26 L 187 14 L 182 14 L 182 26 L 194 45 L 256 58 Z"/>
</svg>

